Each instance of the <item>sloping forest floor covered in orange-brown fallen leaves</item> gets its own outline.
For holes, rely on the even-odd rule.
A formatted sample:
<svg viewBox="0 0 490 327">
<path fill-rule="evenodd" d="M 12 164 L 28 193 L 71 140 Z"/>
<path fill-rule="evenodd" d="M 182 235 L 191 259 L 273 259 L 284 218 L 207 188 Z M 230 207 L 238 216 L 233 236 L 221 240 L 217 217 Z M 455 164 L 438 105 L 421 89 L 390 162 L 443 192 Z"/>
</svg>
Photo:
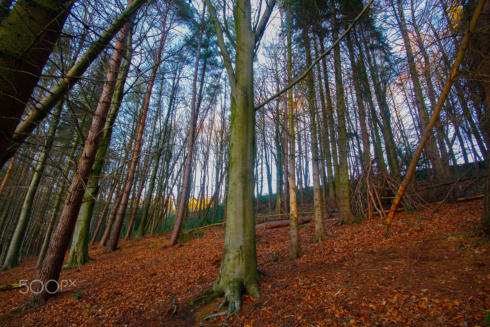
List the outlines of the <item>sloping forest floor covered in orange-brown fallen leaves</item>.
<svg viewBox="0 0 490 327">
<path fill-rule="evenodd" d="M 483 327 L 490 244 L 458 251 L 462 241 L 442 240 L 473 228 L 482 208 L 476 200 L 446 204 L 432 216 L 399 213 L 388 239 L 379 217 L 327 222 L 334 239 L 323 243 L 313 243 L 314 228 L 303 227 L 306 255 L 294 262 L 287 227 L 257 231 L 258 264 L 267 273 L 262 297 L 244 296 L 242 313 L 226 324 L 224 317 L 202 322 L 221 300 L 203 295 L 218 273 L 221 228 L 172 248 L 161 235 L 121 241 L 110 254 L 94 246 L 95 263 L 63 271 L 60 280 L 71 282 L 40 308 L 19 311 L 30 297 L 26 288 L 0 292 L 0 326 Z M 36 259 L 1 272 L 0 286 L 34 280 Z"/>
</svg>

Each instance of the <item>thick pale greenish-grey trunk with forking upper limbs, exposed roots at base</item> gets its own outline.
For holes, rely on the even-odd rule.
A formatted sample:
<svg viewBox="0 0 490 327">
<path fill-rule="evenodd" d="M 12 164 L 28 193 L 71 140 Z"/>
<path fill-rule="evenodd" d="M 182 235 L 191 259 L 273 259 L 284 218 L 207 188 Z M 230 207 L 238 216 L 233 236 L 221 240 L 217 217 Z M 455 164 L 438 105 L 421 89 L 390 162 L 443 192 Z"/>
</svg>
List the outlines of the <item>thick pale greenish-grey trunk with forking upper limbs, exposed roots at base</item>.
<svg viewBox="0 0 490 327">
<path fill-rule="evenodd" d="M 220 307 L 228 305 L 227 315 L 240 312 L 242 295 L 260 298 L 255 236 L 254 176 L 255 106 L 253 103 L 253 57 L 275 0 L 270 0 L 256 28 L 252 28 L 250 0 L 237 0 L 235 71 L 224 43 L 221 24 L 211 0 L 206 0 L 216 29 L 221 55 L 231 87 L 231 132 L 229 193 L 220 272 L 213 290 L 223 296 Z"/>
</svg>

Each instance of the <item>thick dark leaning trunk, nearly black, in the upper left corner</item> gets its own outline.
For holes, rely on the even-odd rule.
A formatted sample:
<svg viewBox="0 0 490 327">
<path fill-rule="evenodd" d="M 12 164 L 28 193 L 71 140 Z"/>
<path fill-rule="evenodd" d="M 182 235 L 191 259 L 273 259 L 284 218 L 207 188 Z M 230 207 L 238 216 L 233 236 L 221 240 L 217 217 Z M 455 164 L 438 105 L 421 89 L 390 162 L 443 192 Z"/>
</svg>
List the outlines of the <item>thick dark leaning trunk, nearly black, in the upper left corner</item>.
<svg viewBox="0 0 490 327">
<path fill-rule="evenodd" d="M 0 158 L 7 151 L 72 5 L 68 0 L 19 0 L 0 26 Z"/>
</svg>

